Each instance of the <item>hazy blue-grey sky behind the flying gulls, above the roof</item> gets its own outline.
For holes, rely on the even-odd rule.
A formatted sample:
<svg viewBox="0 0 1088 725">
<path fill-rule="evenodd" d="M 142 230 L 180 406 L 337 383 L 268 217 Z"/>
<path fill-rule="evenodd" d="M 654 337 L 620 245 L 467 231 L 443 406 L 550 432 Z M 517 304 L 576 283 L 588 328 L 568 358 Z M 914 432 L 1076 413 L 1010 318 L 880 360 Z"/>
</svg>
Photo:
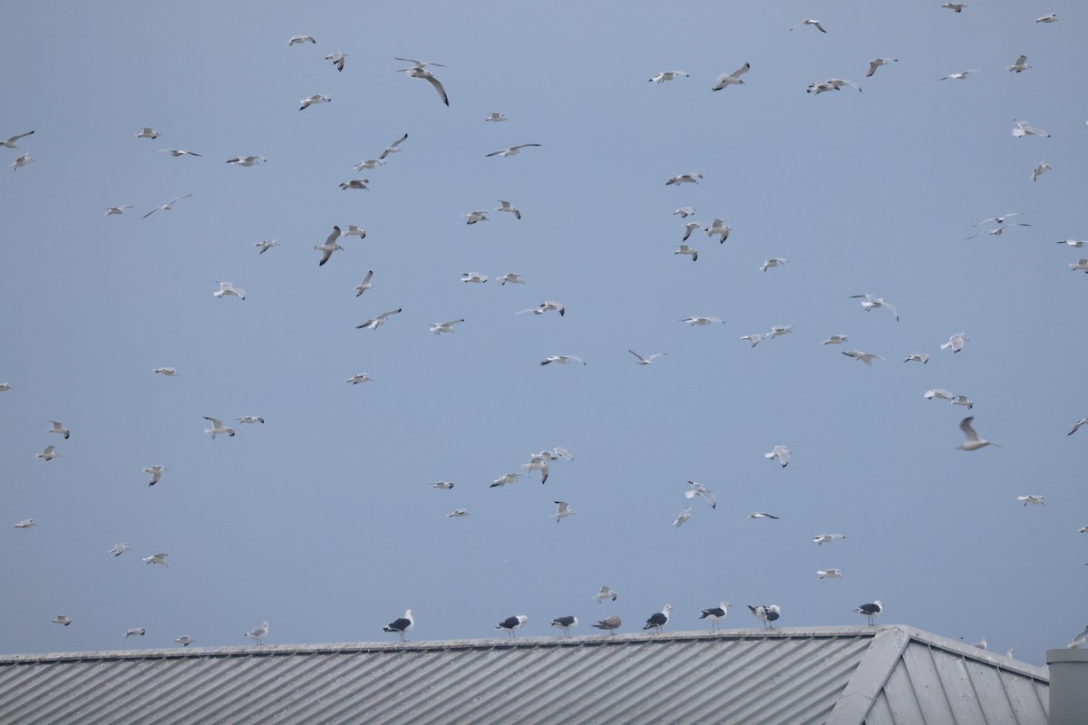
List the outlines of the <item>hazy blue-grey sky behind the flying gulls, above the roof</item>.
<svg viewBox="0 0 1088 725">
<path fill-rule="evenodd" d="M 1066 436 L 1088 415 L 1088 278 L 1068 268 L 1088 249 L 1055 243 L 1088 238 L 1088 9 L 940 4 L 9 8 L 0 138 L 36 133 L 0 148 L 35 159 L 0 167 L 0 651 L 240 645 L 263 620 L 270 643 L 385 641 L 407 608 L 416 640 L 514 614 L 523 636 L 565 614 L 632 632 L 664 603 L 668 629 L 695 629 L 722 599 L 727 628 L 759 626 L 761 603 L 781 626 L 863 624 L 853 609 L 880 599 L 880 623 L 1042 663 L 1088 617 L 1088 430 Z M 790 30 L 813 15 L 826 34 Z M 1006 72 L 1021 53 L 1034 67 Z M 396 57 L 443 63 L 449 108 Z M 873 58 L 898 62 L 866 78 Z M 744 85 L 710 91 L 745 62 Z M 690 77 L 647 83 L 668 70 Z M 805 92 L 827 78 L 863 92 Z M 332 101 L 300 112 L 314 93 Z M 1051 137 L 1014 138 L 1013 118 Z M 485 157 L 516 143 L 541 146 Z M 248 154 L 268 162 L 224 163 Z M 666 186 L 683 173 L 703 179 Z M 338 188 L 353 178 L 370 189 Z M 523 218 L 460 216 L 497 199 Z M 696 230 L 694 263 L 672 253 L 684 205 L 733 229 Z M 965 240 L 1007 212 L 1031 226 Z M 348 224 L 367 238 L 319 267 Z M 789 262 L 761 273 L 772 257 Z M 500 286 L 511 271 L 527 284 Z M 515 314 L 545 300 L 566 315 Z M 740 339 L 772 325 L 793 332 Z M 939 349 L 953 333 L 959 354 Z M 833 334 L 850 340 L 820 345 Z M 1003 448 L 956 450 L 968 414 Z M 212 440 L 205 415 L 267 423 Z M 764 459 L 780 443 L 784 470 Z M 35 458 L 48 445 L 60 457 Z M 574 460 L 546 485 L 489 488 L 553 446 Z M 170 470 L 148 487 L 152 464 Z M 556 524 L 556 500 L 577 514 Z M 780 520 L 737 525 L 752 511 Z M 846 539 L 813 543 L 826 532 Z M 169 568 L 140 561 L 156 552 Z M 602 584 L 616 602 L 591 601 Z"/>
</svg>

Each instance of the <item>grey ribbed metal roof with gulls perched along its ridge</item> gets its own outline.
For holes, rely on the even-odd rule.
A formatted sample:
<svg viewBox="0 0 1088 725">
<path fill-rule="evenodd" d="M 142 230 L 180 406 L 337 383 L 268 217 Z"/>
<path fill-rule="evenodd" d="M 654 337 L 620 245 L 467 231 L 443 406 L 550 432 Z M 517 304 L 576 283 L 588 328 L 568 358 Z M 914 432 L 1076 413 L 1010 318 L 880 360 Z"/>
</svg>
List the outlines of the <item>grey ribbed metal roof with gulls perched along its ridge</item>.
<svg viewBox="0 0 1088 725">
<path fill-rule="evenodd" d="M 1047 722 L 1046 667 L 901 625 L 0 658 L 0 723 Z"/>
</svg>

